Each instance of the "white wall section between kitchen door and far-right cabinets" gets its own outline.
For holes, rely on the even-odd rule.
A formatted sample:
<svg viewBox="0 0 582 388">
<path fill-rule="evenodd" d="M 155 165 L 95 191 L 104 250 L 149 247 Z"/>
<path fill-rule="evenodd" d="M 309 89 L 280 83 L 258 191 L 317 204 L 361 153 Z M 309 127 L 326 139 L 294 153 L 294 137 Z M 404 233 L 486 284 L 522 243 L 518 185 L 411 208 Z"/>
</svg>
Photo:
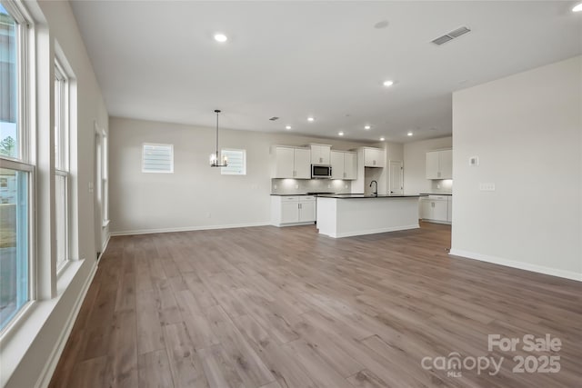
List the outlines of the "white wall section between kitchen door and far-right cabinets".
<svg viewBox="0 0 582 388">
<path fill-rule="evenodd" d="M 431 192 L 431 181 L 426 179 L 426 152 L 451 148 L 452 145 L 453 138 L 450 136 L 404 144 L 405 194 Z"/>
</svg>

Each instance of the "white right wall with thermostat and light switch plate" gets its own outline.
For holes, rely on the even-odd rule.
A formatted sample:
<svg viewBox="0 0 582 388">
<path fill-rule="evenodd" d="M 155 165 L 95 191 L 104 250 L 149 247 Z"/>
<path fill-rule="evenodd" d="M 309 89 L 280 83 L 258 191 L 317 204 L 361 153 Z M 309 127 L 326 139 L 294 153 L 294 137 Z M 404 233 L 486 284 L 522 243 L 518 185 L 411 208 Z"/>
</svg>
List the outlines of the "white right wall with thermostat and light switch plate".
<svg viewBox="0 0 582 388">
<path fill-rule="evenodd" d="M 577 56 L 453 95 L 451 254 L 582 280 L 581 85 Z"/>
</svg>

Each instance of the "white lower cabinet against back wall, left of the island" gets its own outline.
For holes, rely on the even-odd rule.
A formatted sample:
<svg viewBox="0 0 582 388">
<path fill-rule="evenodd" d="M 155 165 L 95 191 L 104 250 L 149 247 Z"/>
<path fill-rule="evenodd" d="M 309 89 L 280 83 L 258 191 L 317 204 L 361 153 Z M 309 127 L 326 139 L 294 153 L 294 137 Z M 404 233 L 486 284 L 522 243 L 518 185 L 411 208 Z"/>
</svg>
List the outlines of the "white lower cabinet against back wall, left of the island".
<svg viewBox="0 0 582 388">
<path fill-rule="evenodd" d="M 314 195 L 271 195 L 271 224 L 287 226 L 315 222 Z"/>
</svg>

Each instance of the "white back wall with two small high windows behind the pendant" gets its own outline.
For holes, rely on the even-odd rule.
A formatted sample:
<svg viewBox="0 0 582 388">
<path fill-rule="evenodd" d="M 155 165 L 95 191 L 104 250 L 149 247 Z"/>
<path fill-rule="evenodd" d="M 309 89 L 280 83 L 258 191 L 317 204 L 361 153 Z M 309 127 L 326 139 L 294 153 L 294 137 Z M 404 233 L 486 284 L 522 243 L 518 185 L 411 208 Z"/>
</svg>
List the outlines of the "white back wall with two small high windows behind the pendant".
<svg viewBox="0 0 582 388">
<path fill-rule="evenodd" d="M 208 165 L 216 128 L 112 117 L 110 229 L 113 234 L 269 224 L 272 144 L 358 145 L 287 134 L 220 129 L 219 146 L 246 149 L 246 175 Z M 143 143 L 174 144 L 174 174 L 141 172 Z"/>
</svg>

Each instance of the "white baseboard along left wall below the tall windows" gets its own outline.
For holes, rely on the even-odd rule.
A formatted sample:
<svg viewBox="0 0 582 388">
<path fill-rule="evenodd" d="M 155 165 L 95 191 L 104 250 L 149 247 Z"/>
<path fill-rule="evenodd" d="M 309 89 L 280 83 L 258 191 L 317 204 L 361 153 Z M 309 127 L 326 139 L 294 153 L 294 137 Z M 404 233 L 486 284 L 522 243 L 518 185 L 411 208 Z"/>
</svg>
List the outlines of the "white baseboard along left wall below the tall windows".
<svg viewBox="0 0 582 388">
<path fill-rule="evenodd" d="M 107 240 L 108 242 L 109 240 Z M 106 244 L 105 244 L 106 246 Z M 95 273 L 97 272 L 97 262 L 93 265 L 91 269 L 91 274 L 85 280 L 85 284 L 83 284 L 83 288 L 81 289 L 81 293 L 79 293 L 75 305 L 73 306 L 73 310 L 69 314 L 65 327 L 63 331 L 58 336 L 58 340 L 56 341 L 55 347 L 53 348 L 53 352 L 49 355 L 45 367 L 43 368 L 43 372 L 38 377 L 38 380 L 35 383 L 35 388 L 47 387 L 48 384 L 51 382 L 51 378 L 53 377 L 53 373 L 55 373 L 56 365 L 61 358 L 61 354 L 65 350 L 66 341 L 73 330 L 73 326 L 75 325 L 76 317 L 81 310 L 81 306 L 85 301 L 85 295 L 87 291 L 89 291 L 89 286 L 93 282 L 93 278 L 95 277 Z"/>
</svg>

